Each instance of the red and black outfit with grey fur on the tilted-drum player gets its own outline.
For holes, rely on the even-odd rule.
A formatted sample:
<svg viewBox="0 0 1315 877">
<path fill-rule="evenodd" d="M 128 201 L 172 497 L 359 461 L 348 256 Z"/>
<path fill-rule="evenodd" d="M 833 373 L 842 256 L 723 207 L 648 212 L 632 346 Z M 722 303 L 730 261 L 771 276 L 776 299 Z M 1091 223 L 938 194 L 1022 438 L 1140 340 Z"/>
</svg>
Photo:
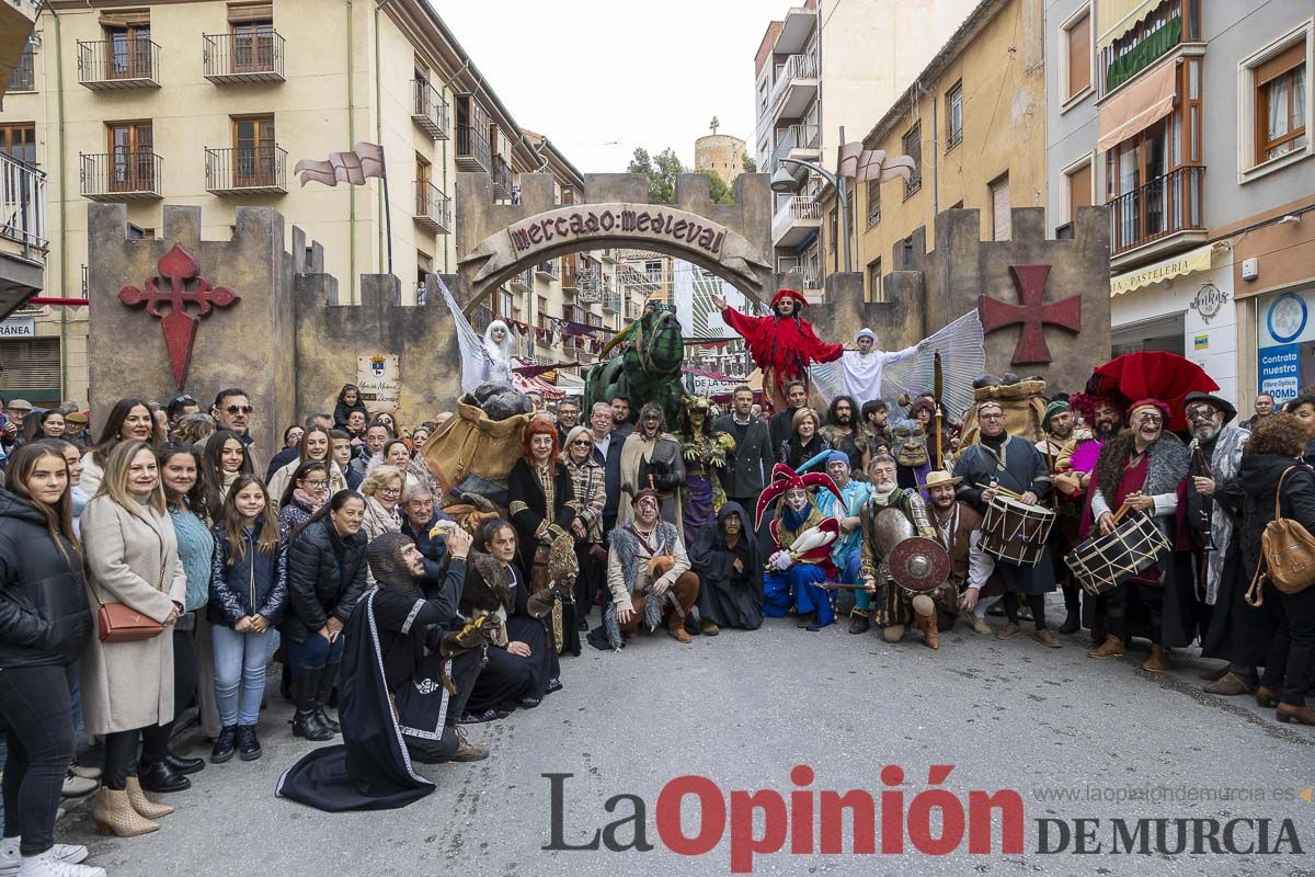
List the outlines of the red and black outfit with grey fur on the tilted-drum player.
<svg viewBox="0 0 1315 877">
<path fill-rule="evenodd" d="M 1089 494 L 1090 531 L 1106 511 L 1114 513 L 1134 492 L 1155 500 L 1155 525 L 1176 544 L 1178 485 L 1187 473 L 1187 448 L 1172 433 L 1164 433 L 1147 452 L 1135 459 L 1132 433 L 1105 442 L 1091 476 Z M 1160 563 L 1105 593 L 1110 606 L 1110 632 L 1127 640 L 1148 634 L 1160 646 L 1187 646 L 1197 635 L 1195 593 L 1191 561 L 1172 551 Z"/>
</svg>

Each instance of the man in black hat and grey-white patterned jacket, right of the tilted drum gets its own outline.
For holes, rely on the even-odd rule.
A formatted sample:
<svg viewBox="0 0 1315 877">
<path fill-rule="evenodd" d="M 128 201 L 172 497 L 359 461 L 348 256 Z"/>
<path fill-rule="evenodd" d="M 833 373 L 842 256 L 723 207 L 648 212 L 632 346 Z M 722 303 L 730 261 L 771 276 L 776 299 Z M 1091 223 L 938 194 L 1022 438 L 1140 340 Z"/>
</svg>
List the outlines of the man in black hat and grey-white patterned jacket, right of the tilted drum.
<svg viewBox="0 0 1315 877">
<path fill-rule="evenodd" d="M 1227 661 L 1207 671 L 1211 694 L 1237 696 L 1256 690 L 1256 665 L 1265 660 L 1269 643 L 1265 613 L 1244 600 L 1245 581 L 1226 575 L 1233 542 L 1235 518 L 1215 496 L 1237 475 L 1243 446 L 1251 433 L 1233 425 L 1237 409 L 1211 393 L 1187 393 L 1182 402 L 1191 430 L 1184 522 L 1191 538 L 1197 597 L 1201 601 L 1201 656 Z"/>
</svg>

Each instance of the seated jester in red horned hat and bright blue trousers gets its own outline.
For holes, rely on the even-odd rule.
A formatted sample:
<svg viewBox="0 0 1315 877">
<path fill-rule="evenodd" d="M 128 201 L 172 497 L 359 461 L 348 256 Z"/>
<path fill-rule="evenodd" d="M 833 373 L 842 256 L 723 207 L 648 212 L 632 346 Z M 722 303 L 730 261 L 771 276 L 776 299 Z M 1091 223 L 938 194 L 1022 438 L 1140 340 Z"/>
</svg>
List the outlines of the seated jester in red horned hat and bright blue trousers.
<svg viewBox="0 0 1315 877">
<path fill-rule="evenodd" d="M 755 529 L 761 526 L 763 513 L 775 501 L 776 518 L 769 527 L 773 544 L 763 576 L 764 614 L 782 618 L 794 609 L 800 627 L 818 631 L 835 619 L 830 592 L 822 582 L 836 579 L 831 547 L 840 535 L 840 522 L 818 509 L 810 489 L 827 490 L 838 502 L 844 502 L 830 475 L 798 475 L 777 463 L 772 483 L 757 500 Z"/>
</svg>

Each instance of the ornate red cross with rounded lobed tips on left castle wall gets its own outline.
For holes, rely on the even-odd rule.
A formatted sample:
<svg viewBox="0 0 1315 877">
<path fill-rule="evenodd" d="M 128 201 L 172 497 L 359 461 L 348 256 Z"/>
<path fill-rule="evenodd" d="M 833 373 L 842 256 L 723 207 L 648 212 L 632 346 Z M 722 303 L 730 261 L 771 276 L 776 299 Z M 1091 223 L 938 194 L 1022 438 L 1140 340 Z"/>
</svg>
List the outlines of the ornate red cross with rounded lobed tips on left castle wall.
<svg viewBox="0 0 1315 877">
<path fill-rule="evenodd" d="M 212 305 L 227 308 L 241 301 L 242 296 L 227 287 L 210 289 L 205 277 L 197 276 L 201 268 L 196 264 L 196 259 L 176 243 L 160 256 L 156 267 L 160 273 L 146 281 L 146 289 L 124 287 L 118 292 L 118 300 L 129 308 L 146 305 L 146 313 L 160 318 L 168 362 L 174 368 L 174 383 L 181 391 L 187 380 L 187 368 L 192 364 L 192 344 L 196 342 L 196 326 L 200 318 L 210 313 Z M 163 277 L 168 279 L 167 291 L 156 284 Z M 160 304 L 168 305 L 167 314 L 160 314 Z M 197 306 L 195 317 L 187 313 L 188 304 Z"/>
</svg>

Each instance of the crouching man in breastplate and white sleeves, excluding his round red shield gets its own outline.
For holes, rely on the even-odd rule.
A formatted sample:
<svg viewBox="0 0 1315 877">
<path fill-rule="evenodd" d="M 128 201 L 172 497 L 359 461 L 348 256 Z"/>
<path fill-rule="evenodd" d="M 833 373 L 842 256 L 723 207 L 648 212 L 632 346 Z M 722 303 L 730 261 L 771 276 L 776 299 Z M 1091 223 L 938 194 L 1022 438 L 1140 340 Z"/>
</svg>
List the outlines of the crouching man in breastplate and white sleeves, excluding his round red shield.
<svg viewBox="0 0 1315 877">
<path fill-rule="evenodd" d="M 917 489 L 902 488 L 896 481 L 894 458 L 877 456 L 868 472 L 872 475 L 872 496 L 859 513 L 864 589 L 856 594 L 855 614 L 871 611 L 872 621 L 882 628 L 881 635 L 888 643 L 898 643 L 905 628 L 913 625 L 922 631 L 928 648 L 940 648 L 936 601 L 952 610 L 957 598 L 949 596 L 947 602 L 944 590 L 939 588 L 934 594 L 913 593 L 894 580 L 890 569 L 892 552 L 901 542 L 914 536 L 936 538 L 927 506 Z"/>
</svg>

